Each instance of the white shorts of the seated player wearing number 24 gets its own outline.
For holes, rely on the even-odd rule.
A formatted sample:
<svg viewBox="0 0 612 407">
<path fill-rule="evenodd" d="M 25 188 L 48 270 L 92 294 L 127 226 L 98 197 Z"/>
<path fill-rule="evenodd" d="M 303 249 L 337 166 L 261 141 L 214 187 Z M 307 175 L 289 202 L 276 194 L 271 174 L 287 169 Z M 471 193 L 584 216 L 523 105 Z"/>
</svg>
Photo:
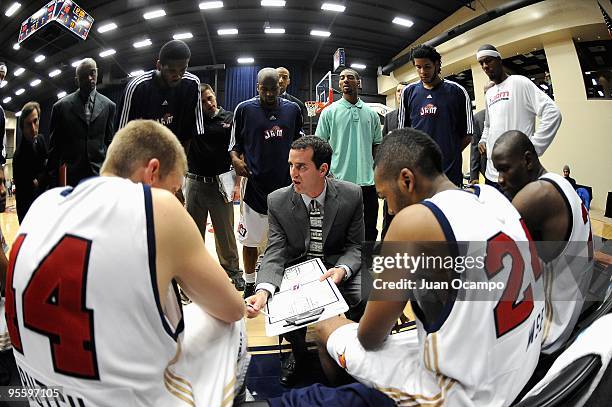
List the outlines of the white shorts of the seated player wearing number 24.
<svg viewBox="0 0 612 407">
<path fill-rule="evenodd" d="M 327 352 L 348 374 L 396 403 L 426 404 L 433 399 L 454 405 L 445 404 L 450 401 L 446 396 L 458 384 L 425 369 L 416 329 L 390 335 L 382 347 L 366 351 L 357 339 L 358 327 L 356 323 L 343 325 L 327 341 Z"/>
</svg>

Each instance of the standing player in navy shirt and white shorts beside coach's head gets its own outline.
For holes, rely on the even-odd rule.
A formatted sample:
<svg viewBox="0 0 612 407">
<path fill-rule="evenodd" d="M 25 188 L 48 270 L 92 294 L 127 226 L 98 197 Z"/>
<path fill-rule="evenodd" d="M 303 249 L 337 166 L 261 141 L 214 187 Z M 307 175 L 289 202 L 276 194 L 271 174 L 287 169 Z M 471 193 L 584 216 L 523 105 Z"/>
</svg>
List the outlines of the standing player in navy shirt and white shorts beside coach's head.
<svg viewBox="0 0 612 407">
<path fill-rule="evenodd" d="M 246 177 L 240 206 L 238 240 L 243 246 L 244 298 L 255 294 L 258 248 L 268 236 L 268 194 L 291 184 L 287 157 L 291 143 L 303 135 L 296 103 L 279 97 L 274 68 L 257 74 L 258 96 L 236 106 L 229 144 L 236 174 Z"/>
</svg>

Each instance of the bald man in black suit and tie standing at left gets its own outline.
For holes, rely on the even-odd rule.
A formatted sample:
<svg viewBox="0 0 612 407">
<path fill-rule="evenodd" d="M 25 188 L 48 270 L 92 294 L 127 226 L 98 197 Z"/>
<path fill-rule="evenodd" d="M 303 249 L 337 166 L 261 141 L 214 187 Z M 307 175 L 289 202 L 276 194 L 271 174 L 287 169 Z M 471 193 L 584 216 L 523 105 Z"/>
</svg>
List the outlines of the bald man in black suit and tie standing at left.
<svg viewBox="0 0 612 407">
<path fill-rule="evenodd" d="M 79 89 L 53 105 L 47 164 L 50 186 L 58 185 L 60 178 L 63 181 L 63 165 L 67 185 L 76 186 L 100 173 L 115 134 L 116 106 L 96 91 L 97 80 L 96 61 L 84 59 L 76 69 Z"/>
</svg>

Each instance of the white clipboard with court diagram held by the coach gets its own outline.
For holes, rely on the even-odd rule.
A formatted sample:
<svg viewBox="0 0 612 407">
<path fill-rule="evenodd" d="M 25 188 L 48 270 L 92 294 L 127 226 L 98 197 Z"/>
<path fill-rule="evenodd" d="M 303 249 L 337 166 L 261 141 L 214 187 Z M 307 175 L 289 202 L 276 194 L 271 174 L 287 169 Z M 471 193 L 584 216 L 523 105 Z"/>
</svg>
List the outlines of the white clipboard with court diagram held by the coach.
<svg viewBox="0 0 612 407">
<path fill-rule="evenodd" d="M 275 336 L 342 314 L 349 309 L 327 269 L 312 259 L 285 269 L 280 290 L 266 305 L 266 335 Z"/>
</svg>

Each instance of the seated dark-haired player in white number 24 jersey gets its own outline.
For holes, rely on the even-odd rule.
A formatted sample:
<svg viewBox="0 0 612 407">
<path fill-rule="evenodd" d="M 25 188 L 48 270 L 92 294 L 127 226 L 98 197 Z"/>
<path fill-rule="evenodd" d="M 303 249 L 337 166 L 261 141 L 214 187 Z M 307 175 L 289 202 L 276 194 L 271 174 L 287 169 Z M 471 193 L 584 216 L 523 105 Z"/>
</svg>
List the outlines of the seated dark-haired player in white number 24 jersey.
<svg viewBox="0 0 612 407">
<path fill-rule="evenodd" d="M 320 344 L 326 349 L 321 352 L 324 370 L 339 365 L 401 405 L 509 405 L 538 362 L 544 314 L 543 301 L 538 300 L 544 295 L 542 279 L 531 267 L 518 214 L 497 213 L 495 205 L 455 187 L 444 175 L 437 144 L 414 129 L 396 130 L 383 139 L 375 182 L 379 196 L 395 213 L 383 254 L 398 253 L 385 246 L 403 242 L 402 250 L 413 257 L 448 251 L 458 261 L 454 243 L 470 242 L 467 253 L 482 261 L 475 271 L 503 288 L 489 293 L 444 287 L 372 291 L 359 324 L 342 317 L 318 324 Z M 490 196 L 494 193 L 498 200 L 505 199 L 495 191 Z M 448 244 L 441 252 L 419 242 Z M 417 284 L 452 286 L 460 271 L 417 268 L 411 274 L 392 267 L 380 275 L 397 273 L 397 279 Z M 412 294 L 417 329 L 390 335 L 406 305 L 405 294 Z"/>
</svg>

